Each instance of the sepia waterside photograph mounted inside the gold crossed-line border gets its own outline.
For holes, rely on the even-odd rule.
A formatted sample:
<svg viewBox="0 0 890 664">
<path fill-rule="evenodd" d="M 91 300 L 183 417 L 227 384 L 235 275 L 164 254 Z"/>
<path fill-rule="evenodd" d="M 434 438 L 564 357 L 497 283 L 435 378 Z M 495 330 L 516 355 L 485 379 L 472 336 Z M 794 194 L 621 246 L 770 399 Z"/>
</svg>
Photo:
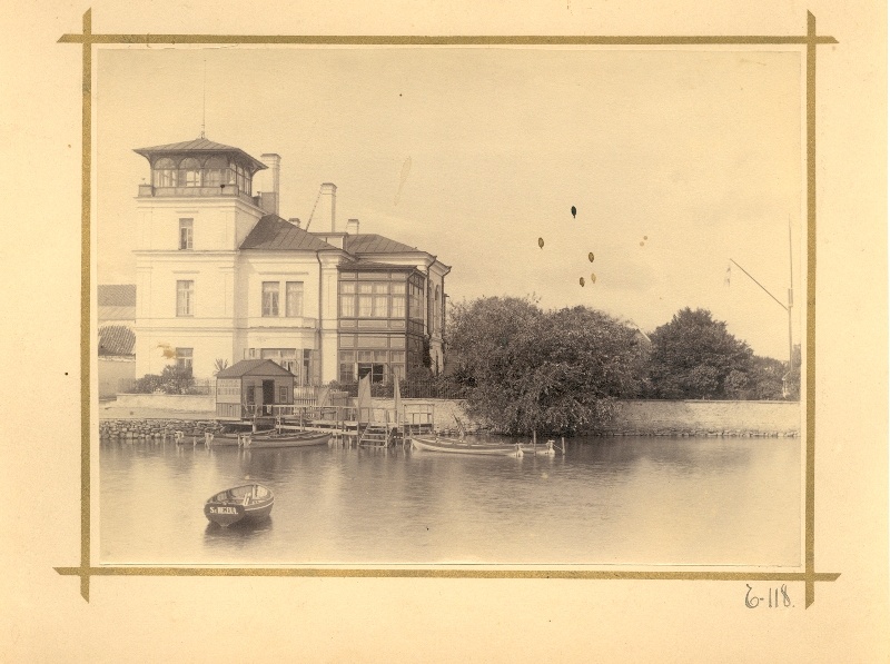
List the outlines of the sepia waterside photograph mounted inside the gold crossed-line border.
<svg viewBox="0 0 890 664">
<path fill-rule="evenodd" d="M 803 72 L 99 49 L 101 563 L 800 568 Z"/>
</svg>

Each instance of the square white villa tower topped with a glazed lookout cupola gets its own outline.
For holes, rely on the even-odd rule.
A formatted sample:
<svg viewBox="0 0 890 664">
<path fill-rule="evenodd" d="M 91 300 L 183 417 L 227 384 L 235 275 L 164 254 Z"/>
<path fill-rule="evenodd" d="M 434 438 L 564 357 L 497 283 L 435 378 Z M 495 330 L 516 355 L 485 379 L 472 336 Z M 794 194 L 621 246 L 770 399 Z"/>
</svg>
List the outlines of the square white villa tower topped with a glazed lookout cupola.
<svg viewBox="0 0 890 664">
<path fill-rule="evenodd" d="M 259 160 L 206 138 L 135 152 L 150 167 L 136 198 L 136 375 L 174 359 L 208 376 L 217 358 L 240 359 L 238 250 L 278 211 L 279 157 Z M 265 187 L 257 176 L 267 176 Z"/>
</svg>

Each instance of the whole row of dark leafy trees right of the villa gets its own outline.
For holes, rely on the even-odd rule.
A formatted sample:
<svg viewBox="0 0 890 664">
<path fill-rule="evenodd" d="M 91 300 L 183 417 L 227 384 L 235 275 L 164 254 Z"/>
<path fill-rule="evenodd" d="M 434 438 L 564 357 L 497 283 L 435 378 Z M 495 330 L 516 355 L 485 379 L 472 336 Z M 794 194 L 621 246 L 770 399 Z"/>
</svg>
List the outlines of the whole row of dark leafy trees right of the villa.
<svg viewBox="0 0 890 664">
<path fill-rule="evenodd" d="M 545 311 L 532 298 L 454 305 L 444 380 L 505 434 L 573 435 L 607 423 L 617 399 L 798 399 L 800 356 L 755 356 L 706 309 L 650 335 L 590 307 Z"/>
</svg>

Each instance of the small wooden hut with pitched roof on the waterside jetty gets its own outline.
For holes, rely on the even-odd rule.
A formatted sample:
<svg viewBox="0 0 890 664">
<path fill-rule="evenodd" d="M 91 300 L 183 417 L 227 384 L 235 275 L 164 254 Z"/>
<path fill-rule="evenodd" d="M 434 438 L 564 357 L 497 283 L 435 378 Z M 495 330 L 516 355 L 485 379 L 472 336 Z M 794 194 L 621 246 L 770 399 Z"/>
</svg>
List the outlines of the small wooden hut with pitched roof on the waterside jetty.
<svg viewBox="0 0 890 664">
<path fill-rule="evenodd" d="M 217 417 L 273 415 L 273 405 L 294 404 L 296 376 L 270 359 L 243 359 L 216 375 Z"/>
</svg>

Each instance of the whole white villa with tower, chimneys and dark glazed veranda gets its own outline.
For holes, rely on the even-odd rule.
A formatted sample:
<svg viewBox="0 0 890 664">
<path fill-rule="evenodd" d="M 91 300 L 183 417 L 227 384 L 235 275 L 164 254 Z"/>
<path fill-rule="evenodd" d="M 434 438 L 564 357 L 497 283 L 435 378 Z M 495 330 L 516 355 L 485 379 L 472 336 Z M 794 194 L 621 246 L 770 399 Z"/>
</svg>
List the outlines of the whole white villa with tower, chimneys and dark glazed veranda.
<svg viewBox="0 0 890 664">
<path fill-rule="evenodd" d="M 273 359 L 297 385 L 443 369 L 445 276 L 426 251 L 338 224 L 322 185 L 313 231 L 278 216 L 280 157 L 205 138 L 141 148 L 136 376 L 168 364 Z"/>
</svg>

